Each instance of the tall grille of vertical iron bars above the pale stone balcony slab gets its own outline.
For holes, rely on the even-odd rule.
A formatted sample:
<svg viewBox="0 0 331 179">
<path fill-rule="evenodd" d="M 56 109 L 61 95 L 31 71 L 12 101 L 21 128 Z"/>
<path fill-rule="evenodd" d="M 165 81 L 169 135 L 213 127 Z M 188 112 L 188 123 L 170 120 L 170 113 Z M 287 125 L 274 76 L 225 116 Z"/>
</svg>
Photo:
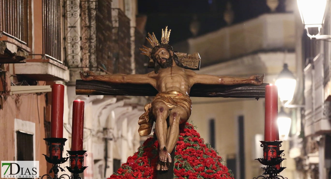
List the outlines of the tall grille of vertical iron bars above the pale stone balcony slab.
<svg viewBox="0 0 331 179">
<path fill-rule="evenodd" d="M 61 62 L 61 0 L 42 1 L 43 54 Z"/>
</svg>

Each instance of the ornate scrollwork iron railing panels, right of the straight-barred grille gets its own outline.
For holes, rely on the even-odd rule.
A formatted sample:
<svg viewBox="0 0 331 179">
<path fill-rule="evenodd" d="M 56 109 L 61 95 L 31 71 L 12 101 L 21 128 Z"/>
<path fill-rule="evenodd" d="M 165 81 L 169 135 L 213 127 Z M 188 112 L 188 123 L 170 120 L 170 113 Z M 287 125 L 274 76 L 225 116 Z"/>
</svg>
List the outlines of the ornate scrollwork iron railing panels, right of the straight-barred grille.
<svg viewBox="0 0 331 179">
<path fill-rule="evenodd" d="M 96 0 L 64 0 L 64 51 L 69 68 L 97 67 Z"/>
</svg>

